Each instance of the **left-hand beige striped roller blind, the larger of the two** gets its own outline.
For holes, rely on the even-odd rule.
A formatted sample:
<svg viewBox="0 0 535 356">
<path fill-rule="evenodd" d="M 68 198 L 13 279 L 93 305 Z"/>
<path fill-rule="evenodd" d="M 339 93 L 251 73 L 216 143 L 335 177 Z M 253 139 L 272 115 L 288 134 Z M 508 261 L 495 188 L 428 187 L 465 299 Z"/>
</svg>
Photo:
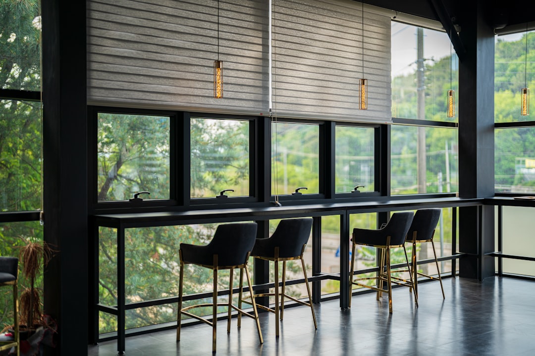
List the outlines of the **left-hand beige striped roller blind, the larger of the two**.
<svg viewBox="0 0 535 356">
<path fill-rule="evenodd" d="M 223 99 L 213 98 L 217 6 L 214 0 L 89 0 L 88 103 L 266 112 L 268 5 L 219 2 Z"/>
</svg>

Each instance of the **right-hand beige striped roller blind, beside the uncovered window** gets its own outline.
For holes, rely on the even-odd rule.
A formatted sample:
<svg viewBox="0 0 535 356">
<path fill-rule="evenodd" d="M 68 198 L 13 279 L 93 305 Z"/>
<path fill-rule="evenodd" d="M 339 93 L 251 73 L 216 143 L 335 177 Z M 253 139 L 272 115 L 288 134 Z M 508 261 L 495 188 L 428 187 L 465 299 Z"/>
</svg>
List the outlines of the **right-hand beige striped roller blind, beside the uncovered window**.
<svg viewBox="0 0 535 356">
<path fill-rule="evenodd" d="M 361 3 L 273 1 L 272 105 L 277 116 L 391 122 L 391 18 L 364 6 L 363 34 Z M 367 110 L 358 109 L 363 46 Z"/>
</svg>

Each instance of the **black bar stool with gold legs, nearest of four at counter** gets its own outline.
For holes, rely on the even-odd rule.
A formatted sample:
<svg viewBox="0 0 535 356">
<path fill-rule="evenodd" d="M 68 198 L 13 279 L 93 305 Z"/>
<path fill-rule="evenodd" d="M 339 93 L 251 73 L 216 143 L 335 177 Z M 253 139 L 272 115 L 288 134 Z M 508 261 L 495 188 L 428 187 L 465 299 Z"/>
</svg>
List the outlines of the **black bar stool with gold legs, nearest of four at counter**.
<svg viewBox="0 0 535 356">
<path fill-rule="evenodd" d="M 251 278 L 247 268 L 247 260 L 249 259 L 251 250 L 256 240 L 256 223 L 241 223 L 241 224 L 224 224 L 217 227 L 216 233 L 212 241 L 206 246 L 196 246 L 193 244 L 180 244 L 180 283 L 179 283 L 179 302 L 178 302 L 178 326 L 177 326 L 177 341 L 180 341 L 180 327 L 182 314 L 188 315 L 190 318 L 195 318 L 208 325 L 212 326 L 212 352 L 216 352 L 216 325 L 217 325 L 217 307 L 228 306 L 228 320 L 227 333 L 230 333 L 231 328 L 231 312 L 232 309 L 238 311 L 238 315 L 247 315 L 256 320 L 256 328 L 260 343 L 263 343 L 262 331 L 260 330 L 260 322 L 258 320 L 258 312 L 256 303 L 253 300 L 253 312 L 250 314 L 236 307 L 232 304 L 232 279 L 234 268 L 240 268 L 240 292 L 239 300 L 242 299 L 243 294 L 243 271 L 247 276 L 247 283 L 249 285 L 249 293 L 253 298 L 253 288 L 251 285 Z M 210 268 L 213 270 L 213 292 L 212 303 L 197 304 L 182 308 L 182 290 L 184 286 L 184 267 L 186 264 L 195 264 Z M 230 270 L 230 283 L 228 303 L 217 303 L 217 271 Z M 212 321 L 198 317 L 188 310 L 195 307 L 211 306 L 212 307 Z M 240 324 L 238 325 L 240 327 Z"/>
</svg>

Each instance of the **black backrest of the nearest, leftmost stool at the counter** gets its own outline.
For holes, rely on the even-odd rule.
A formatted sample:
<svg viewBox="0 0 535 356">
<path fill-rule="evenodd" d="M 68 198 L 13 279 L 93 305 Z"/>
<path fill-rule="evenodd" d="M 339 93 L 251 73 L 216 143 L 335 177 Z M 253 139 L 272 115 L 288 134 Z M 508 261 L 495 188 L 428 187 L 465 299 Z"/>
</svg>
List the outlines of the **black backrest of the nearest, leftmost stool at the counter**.
<svg viewBox="0 0 535 356">
<path fill-rule="evenodd" d="M 218 255 L 219 266 L 237 266 L 247 262 L 247 254 L 256 241 L 256 223 L 221 224 L 208 249 Z"/>
</svg>

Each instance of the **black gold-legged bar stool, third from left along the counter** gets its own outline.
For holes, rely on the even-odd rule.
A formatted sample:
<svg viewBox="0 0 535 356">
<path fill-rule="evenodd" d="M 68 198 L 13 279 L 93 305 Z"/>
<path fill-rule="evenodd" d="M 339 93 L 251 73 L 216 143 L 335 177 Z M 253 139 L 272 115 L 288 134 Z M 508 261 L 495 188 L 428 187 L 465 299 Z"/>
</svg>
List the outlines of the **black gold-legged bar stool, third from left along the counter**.
<svg viewBox="0 0 535 356">
<path fill-rule="evenodd" d="M 388 310 L 392 313 L 392 283 L 399 284 L 400 286 L 406 286 L 414 290 L 414 283 L 412 282 L 412 274 L 410 275 L 410 283 L 404 279 L 392 276 L 390 267 L 390 249 L 403 247 L 405 252 L 405 259 L 407 261 L 407 268 L 409 267 L 409 259 L 407 257 L 407 250 L 405 249 L 405 239 L 407 231 L 409 231 L 410 224 L 414 213 L 408 212 L 395 212 L 388 221 L 388 224 L 379 230 L 368 230 L 363 228 L 355 228 L 353 230 L 353 247 L 351 249 L 351 268 L 349 271 L 350 287 L 353 284 L 365 288 L 370 288 L 377 291 L 377 300 L 381 297 L 383 292 L 388 293 Z M 356 245 L 365 245 L 377 248 L 380 252 L 379 272 L 376 277 L 357 278 L 353 280 L 353 271 L 355 264 L 355 247 Z M 386 272 L 385 272 L 386 265 Z M 359 283 L 363 280 L 376 280 L 375 286 L 368 286 L 367 284 Z M 387 283 L 387 287 L 384 288 L 384 283 Z M 351 294 L 352 288 L 349 288 L 349 306 L 351 306 Z M 414 299 L 416 306 L 418 306 L 418 297 L 416 291 L 414 293 Z"/>
</svg>

